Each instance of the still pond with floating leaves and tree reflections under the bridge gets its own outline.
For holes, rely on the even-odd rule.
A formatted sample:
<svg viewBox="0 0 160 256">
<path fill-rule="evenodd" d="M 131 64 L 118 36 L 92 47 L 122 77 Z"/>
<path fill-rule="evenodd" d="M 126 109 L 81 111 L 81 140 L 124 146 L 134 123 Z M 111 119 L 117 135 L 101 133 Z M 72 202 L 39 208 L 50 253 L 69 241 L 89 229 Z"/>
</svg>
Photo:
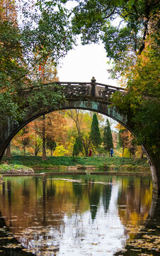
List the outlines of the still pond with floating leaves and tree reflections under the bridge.
<svg viewBox="0 0 160 256">
<path fill-rule="evenodd" d="M 4 177 L 0 253 L 108 256 L 125 252 L 151 208 L 149 176 Z"/>
</svg>

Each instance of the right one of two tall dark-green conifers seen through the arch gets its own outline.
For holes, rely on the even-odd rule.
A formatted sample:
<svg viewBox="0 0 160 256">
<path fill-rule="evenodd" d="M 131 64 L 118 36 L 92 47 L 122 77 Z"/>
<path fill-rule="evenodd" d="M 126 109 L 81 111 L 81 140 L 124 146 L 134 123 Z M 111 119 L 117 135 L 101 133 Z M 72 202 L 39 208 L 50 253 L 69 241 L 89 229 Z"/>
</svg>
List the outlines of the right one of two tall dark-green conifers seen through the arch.
<svg viewBox="0 0 160 256">
<path fill-rule="evenodd" d="M 105 150 L 108 151 L 110 154 L 110 149 L 113 148 L 113 136 L 110 129 L 110 122 L 108 119 L 106 119 L 106 123 L 105 123 L 105 129 L 103 133 L 103 143 L 105 146 Z"/>
</svg>

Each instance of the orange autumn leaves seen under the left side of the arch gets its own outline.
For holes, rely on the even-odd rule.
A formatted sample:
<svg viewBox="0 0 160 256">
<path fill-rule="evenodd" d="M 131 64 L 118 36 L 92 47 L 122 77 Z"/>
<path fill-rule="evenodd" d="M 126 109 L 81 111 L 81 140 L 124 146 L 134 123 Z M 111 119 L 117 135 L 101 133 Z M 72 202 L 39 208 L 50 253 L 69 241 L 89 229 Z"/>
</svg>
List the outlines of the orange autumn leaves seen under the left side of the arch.
<svg viewBox="0 0 160 256">
<path fill-rule="evenodd" d="M 55 140 L 56 143 L 63 144 L 67 139 L 67 120 L 62 112 L 52 112 L 35 119 L 21 129 L 12 140 L 12 146 L 30 154 L 37 155 L 42 149 L 42 132 L 45 125 L 45 139 Z M 35 153 L 37 152 L 37 153 Z"/>
</svg>

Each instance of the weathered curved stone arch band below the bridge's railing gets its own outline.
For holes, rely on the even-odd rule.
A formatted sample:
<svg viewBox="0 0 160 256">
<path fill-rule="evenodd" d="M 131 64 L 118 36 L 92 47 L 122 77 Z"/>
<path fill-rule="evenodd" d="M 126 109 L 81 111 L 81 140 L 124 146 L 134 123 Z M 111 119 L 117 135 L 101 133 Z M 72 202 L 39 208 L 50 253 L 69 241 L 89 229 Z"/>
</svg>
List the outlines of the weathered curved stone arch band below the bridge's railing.
<svg viewBox="0 0 160 256">
<path fill-rule="evenodd" d="M 81 110 L 90 110 L 93 112 L 98 112 L 100 114 L 104 114 L 107 117 L 111 117 L 115 119 L 115 121 L 122 124 L 124 127 L 126 127 L 132 134 L 134 134 L 134 131 L 132 131 L 132 127 L 127 122 L 127 116 L 125 114 L 122 114 L 118 111 L 118 109 L 112 105 L 110 102 L 101 102 L 101 101 L 95 101 L 95 100 L 66 100 L 64 101 L 59 107 L 48 107 L 48 110 L 40 110 L 40 112 L 33 113 L 32 110 L 29 112 L 28 117 L 25 117 L 23 122 L 19 124 L 15 124 L 14 122 L 10 122 L 8 127 L 6 127 L 4 133 L 3 131 L 0 131 L 1 134 L 4 134 L 3 138 L 0 138 L 0 159 L 4 154 L 4 151 L 6 149 L 6 146 L 8 146 L 9 142 L 11 142 L 11 139 L 29 122 L 33 121 L 34 119 L 42 116 L 42 114 L 47 114 L 53 111 L 57 110 L 69 110 L 69 109 L 81 109 Z M 144 145 L 142 145 L 145 149 L 145 153 L 147 154 L 147 158 L 149 159 L 149 165 L 152 171 L 152 179 L 153 179 L 153 187 L 154 190 L 157 191 L 158 189 L 158 183 L 157 183 L 157 171 L 154 168 L 154 163 L 151 159 L 151 157 L 148 154 L 147 149 Z M 159 183 L 160 183 L 160 177 L 159 177 Z"/>
</svg>

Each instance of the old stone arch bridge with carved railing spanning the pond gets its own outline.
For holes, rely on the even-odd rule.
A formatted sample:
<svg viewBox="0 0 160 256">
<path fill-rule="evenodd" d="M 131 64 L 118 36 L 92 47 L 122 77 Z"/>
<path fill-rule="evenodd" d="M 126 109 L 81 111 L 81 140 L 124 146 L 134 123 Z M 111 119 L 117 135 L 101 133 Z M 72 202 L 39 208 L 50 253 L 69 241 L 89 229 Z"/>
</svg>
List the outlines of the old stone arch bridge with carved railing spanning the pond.
<svg viewBox="0 0 160 256">
<path fill-rule="evenodd" d="M 7 119 L 6 124 L 0 124 L 0 159 L 4 154 L 6 147 L 16 133 L 22 129 L 26 124 L 33 121 L 42 114 L 46 114 L 55 110 L 66 109 L 81 109 L 91 110 L 104 114 L 105 116 L 115 119 L 124 127 L 130 130 L 134 134 L 132 125 L 130 124 L 130 117 L 123 114 L 112 104 L 112 95 L 119 91 L 122 96 L 126 91 L 120 87 L 104 85 L 96 82 L 95 78 L 91 79 L 91 82 L 52 82 L 45 86 L 50 87 L 50 93 L 55 89 L 55 84 L 59 85 L 64 92 L 65 100 L 62 103 L 58 103 L 57 106 L 50 105 L 40 110 L 33 110 L 30 105 L 26 106 L 26 115 L 21 122 L 14 122 L 12 119 Z M 154 191 L 160 191 L 160 164 L 154 159 L 154 156 L 149 150 L 142 145 L 149 160 L 149 166 L 152 171 L 152 181 Z"/>
</svg>

